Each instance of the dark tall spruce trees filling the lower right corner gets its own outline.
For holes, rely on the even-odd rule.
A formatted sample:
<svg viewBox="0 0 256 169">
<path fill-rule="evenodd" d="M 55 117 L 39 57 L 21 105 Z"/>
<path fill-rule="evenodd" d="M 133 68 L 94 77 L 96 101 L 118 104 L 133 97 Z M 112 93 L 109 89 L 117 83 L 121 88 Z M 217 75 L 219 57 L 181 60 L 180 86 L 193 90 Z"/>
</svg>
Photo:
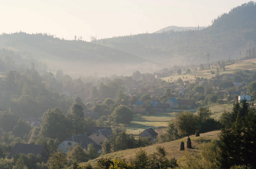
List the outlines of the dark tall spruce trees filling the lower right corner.
<svg viewBox="0 0 256 169">
<path fill-rule="evenodd" d="M 232 114 L 237 108 L 235 104 Z M 256 110 L 249 108 L 245 101 L 242 101 L 236 121 L 224 128 L 219 138 L 221 168 L 234 165 L 256 167 Z"/>
</svg>

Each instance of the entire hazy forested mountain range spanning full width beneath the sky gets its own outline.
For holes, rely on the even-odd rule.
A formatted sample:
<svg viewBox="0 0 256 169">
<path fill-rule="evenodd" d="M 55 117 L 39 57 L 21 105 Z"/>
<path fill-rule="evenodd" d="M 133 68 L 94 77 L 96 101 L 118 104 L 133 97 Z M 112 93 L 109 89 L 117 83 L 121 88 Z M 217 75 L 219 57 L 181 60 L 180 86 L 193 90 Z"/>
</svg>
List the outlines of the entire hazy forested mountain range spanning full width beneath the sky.
<svg viewBox="0 0 256 169">
<path fill-rule="evenodd" d="M 248 50 L 256 47 L 255 16 L 255 2 L 249 2 L 199 30 L 178 31 L 190 27 L 169 26 L 157 31 L 160 33 L 92 42 L 20 32 L 0 35 L 0 47 L 42 61 L 53 72 L 63 69 L 85 75 L 130 75 L 136 70 L 154 72 L 174 65 L 209 64 L 247 56 Z"/>
</svg>

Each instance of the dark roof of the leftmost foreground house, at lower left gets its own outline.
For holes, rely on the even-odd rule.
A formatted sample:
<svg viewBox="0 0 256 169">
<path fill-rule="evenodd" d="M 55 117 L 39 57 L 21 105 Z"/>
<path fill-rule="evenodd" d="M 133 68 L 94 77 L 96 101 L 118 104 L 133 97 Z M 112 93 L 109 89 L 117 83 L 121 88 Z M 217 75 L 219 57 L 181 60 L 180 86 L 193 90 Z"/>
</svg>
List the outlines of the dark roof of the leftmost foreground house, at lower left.
<svg viewBox="0 0 256 169">
<path fill-rule="evenodd" d="M 29 154 L 32 153 L 34 155 L 40 154 L 43 158 L 49 158 L 49 152 L 44 145 L 36 145 L 36 144 L 20 144 L 16 143 L 14 148 L 12 148 L 11 153 L 8 155 L 8 159 L 12 158 L 12 155 L 15 154 Z"/>
</svg>

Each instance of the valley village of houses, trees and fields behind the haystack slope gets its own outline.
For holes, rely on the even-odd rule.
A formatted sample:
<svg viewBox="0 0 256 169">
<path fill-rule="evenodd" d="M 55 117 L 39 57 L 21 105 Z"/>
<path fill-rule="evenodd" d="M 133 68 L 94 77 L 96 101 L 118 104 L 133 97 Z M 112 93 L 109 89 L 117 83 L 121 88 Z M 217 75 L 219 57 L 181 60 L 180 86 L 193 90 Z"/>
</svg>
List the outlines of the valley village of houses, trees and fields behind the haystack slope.
<svg viewBox="0 0 256 169">
<path fill-rule="evenodd" d="M 238 65 L 244 64 L 241 62 L 226 65 L 225 71 L 230 72 L 229 69 L 232 69 L 232 66 L 236 65 L 237 69 Z M 254 62 L 247 62 L 246 64 L 254 65 Z M 219 65 L 215 65 L 215 67 L 217 66 Z M 204 68 L 197 70 L 196 73 L 203 71 L 210 72 Z M 14 134 L 12 144 L 16 142 L 15 138 L 20 138 L 12 150 L 3 147 L 3 155 L 12 159 L 15 154 L 18 155 L 19 153 L 40 154 L 41 162 L 44 163 L 49 159 L 50 153 L 57 149 L 72 159 L 70 153 L 78 153 L 72 151 L 78 151 L 74 147 L 80 146 L 84 149 L 87 157 L 84 158 L 86 161 L 80 162 L 87 162 L 89 159 L 101 157 L 103 154 L 165 143 L 166 141 L 181 139 L 187 134 L 195 134 L 195 132 L 199 136 L 200 133 L 219 130 L 221 126 L 225 125 L 223 123 L 225 117 L 216 115 L 222 114 L 223 110 L 211 111 L 215 105 L 225 105 L 225 108 L 230 105 L 227 109 L 230 111 L 233 105 L 242 104 L 242 101 L 245 100 L 250 108 L 254 108 L 253 96 L 255 96 L 256 88 L 254 71 L 242 69 L 238 69 L 234 73 L 225 73 L 225 71 L 222 70 L 221 73 L 217 73 L 210 79 L 195 75 L 193 81 L 190 80 L 190 82 L 183 81 L 179 76 L 191 77 L 193 70 L 187 73 L 187 70 L 184 69 L 182 70 L 183 74 L 178 74 L 178 69 L 172 70 L 170 71 L 172 75 L 168 77 L 168 81 L 163 80 L 166 79 L 165 77 L 159 78 L 161 74 L 140 74 L 137 71 L 131 77 L 113 79 L 109 82 L 109 86 L 100 82 L 97 88 L 92 87 L 89 92 L 94 101 L 87 103 L 84 101 L 87 99 L 83 92 L 65 90 L 61 97 L 73 98 L 72 100 L 74 100 L 66 114 L 63 114 L 58 108 L 48 109 L 42 117 L 19 119 L 16 124 L 12 124 L 14 130 L 7 128 L 10 123 L 2 123 L 1 138 L 3 141 L 11 141 L 10 136 L 12 134 Z M 194 74 L 196 73 L 194 72 Z M 177 79 L 169 80 L 174 78 Z M 112 88 L 112 85 L 115 88 Z M 116 90 L 115 98 L 112 97 L 112 92 L 103 91 L 102 88 Z M 95 97 L 92 97 L 93 94 L 96 94 Z M 192 115 L 189 117 L 191 119 L 198 114 L 204 114 L 204 118 L 210 123 L 207 124 L 208 122 L 205 121 L 204 127 L 206 128 L 202 128 L 202 126 L 196 125 L 198 122 L 192 121 L 191 123 L 196 125 L 194 127 L 189 126 L 193 128 L 192 130 L 179 128 L 177 121 L 181 121 L 179 119 L 181 112 L 185 112 L 185 116 Z M 9 116 L 13 114 L 10 113 L 10 110 L 2 113 L 1 117 L 4 114 L 9 114 Z M 14 115 L 10 117 L 13 118 L 12 121 L 15 121 Z M 150 117 L 153 118 L 152 122 L 150 122 L 151 120 L 140 121 L 140 119 Z M 157 122 L 158 120 L 159 122 Z M 148 124 L 152 124 L 152 126 Z M 27 132 L 19 132 L 19 128 L 26 127 Z M 8 130 L 10 132 L 7 133 Z M 22 133 L 23 135 L 21 135 Z M 188 139 L 190 140 L 189 137 Z M 182 141 L 182 143 L 180 149 L 184 149 L 184 142 Z"/>
</svg>

